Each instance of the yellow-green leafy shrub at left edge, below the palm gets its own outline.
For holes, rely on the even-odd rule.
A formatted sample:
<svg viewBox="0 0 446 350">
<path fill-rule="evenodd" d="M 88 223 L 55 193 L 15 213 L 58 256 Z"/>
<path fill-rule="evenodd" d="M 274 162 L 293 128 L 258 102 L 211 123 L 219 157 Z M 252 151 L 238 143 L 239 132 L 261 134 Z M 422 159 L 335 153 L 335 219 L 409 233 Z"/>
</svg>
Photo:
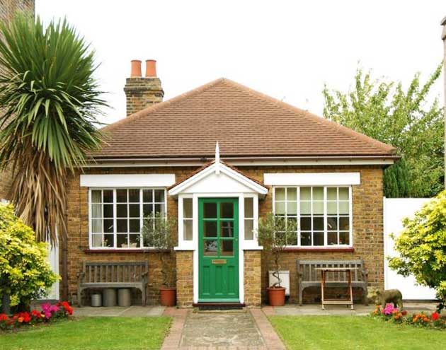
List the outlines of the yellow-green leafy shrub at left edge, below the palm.
<svg viewBox="0 0 446 350">
<path fill-rule="evenodd" d="M 14 214 L 13 206 L 0 204 L 0 295 L 4 313 L 10 311 L 10 298 L 27 308 L 57 281 L 47 254 L 47 243 L 36 242 L 34 231 Z"/>
</svg>

